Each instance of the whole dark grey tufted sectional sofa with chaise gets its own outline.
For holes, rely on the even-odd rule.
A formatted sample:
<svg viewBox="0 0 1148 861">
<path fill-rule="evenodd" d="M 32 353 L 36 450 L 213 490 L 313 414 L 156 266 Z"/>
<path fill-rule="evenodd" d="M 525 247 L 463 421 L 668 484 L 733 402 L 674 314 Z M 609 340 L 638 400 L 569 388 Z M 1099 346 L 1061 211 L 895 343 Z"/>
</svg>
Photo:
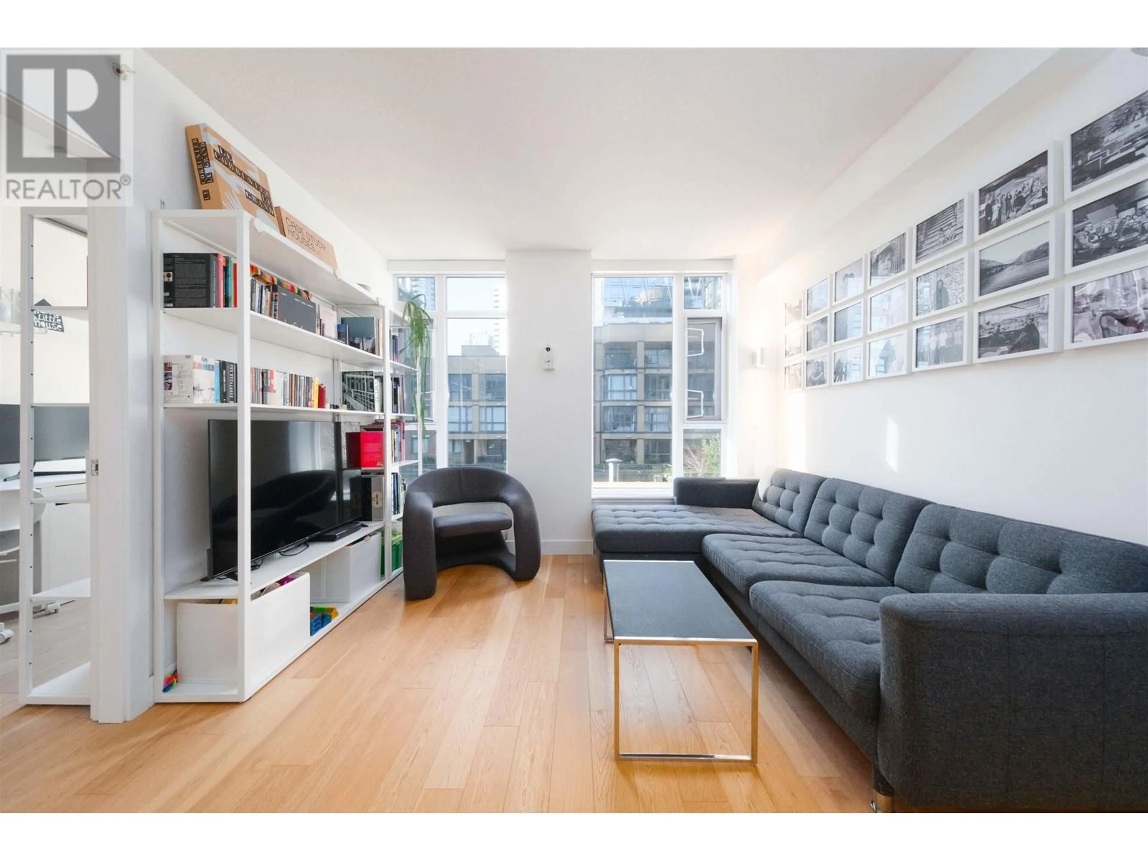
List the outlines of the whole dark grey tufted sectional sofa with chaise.
<svg viewBox="0 0 1148 861">
<path fill-rule="evenodd" d="M 875 805 L 1148 809 L 1148 546 L 788 470 L 674 492 L 596 507 L 599 561 L 697 560 Z"/>
</svg>

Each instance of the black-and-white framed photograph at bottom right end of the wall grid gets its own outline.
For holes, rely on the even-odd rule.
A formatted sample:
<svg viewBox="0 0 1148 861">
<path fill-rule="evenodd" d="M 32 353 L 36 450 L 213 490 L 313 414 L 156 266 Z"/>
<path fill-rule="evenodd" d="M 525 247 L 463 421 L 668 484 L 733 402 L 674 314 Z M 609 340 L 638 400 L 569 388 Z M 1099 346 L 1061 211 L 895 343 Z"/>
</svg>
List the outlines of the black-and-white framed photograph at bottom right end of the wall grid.
<svg viewBox="0 0 1148 861">
<path fill-rule="evenodd" d="M 1148 336 L 1148 266 L 1072 287 L 1072 347 Z"/>
</svg>

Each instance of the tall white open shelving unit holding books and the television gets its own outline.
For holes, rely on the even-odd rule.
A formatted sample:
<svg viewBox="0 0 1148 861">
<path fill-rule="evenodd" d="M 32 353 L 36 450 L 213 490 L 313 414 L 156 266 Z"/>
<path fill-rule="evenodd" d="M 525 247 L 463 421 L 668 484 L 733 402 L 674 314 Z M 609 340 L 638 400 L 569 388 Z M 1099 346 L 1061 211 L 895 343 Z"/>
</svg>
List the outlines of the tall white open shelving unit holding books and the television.
<svg viewBox="0 0 1148 861">
<path fill-rule="evenodd" d="M 241 308 L 163 308 L 163 255 L 169 251 L 222 251 L 236 261 L 245 277 L 251 264 L 284 280 L 298 285 L 313 296 L 334 304 L 340 316 L 348 311 L 355 316 L 378 316 L 389 321 L 390 309 L 378 296 L 344 279 L 308 251 L 295 246 L 261 222 L 240 211 L 158 210 L 152 214 L 152 257 L 154 284 L 153 343 L 155 355 L 154 386 L 154 495 L 160 511 L 154 519 L 154 697 L 156 703 L 243 701 L 300 657 L 311 645 L 338 627 L 351 612 L 371 596 L 390 583 L 400 573 L 390 565 L 389 537 L 393 528 L 387 517 L 382 521 L 365 523 L 365 528 L 341 540 L 305 545 L 294 554 L 269 556 L 253 567 L 250 535 L 251 501 L 251 441 L 250 422 L 259 420 L 311 419 L 363 425 L 391 422 L 389 380 L 391 375 L 388 343 L 380 346 L 382 355 L 374 355 L 319 334 L 305 332 L 279 320 Z M 389 293 L 389 292 L 388 292 Z M 240 301 L 246 305 L 246 290 Z M 365 370 L 383 377 L 386 397 L 382 412 L 358 410 L 271 406 L 253 404 L 247 386 L 240 385 L 238 403 L 231 404 L 165 404 L 163 396 L 163 356 L 168 354 L 208 355 L 236 364 L 236 379 L 248 380 L 251 367 L 278 367 L 289 373 L 319 378 L 334 403 L 342 402 L 342 371 Z M 403 372 L 400 369 L 397 372 Z M 231 418 L 236 427 L 236 488 L 238 506 L 238 572 L 235 580 L 203 581 L 208 573 L 208 488 L 207 488 L 207 421 L 211 418 Z M 389 471 L 390 467 L 388 467 Z M 397 467 L 395 467 L 397 468 Z M 366 571 L 360 549 L 369 546 L 372 536 L 379 536 L 381 560 L 375 579 Z M 364 544 L 359 544 L 364 542 Z M 372 550 L 373 552 L 373 550 Z M 338 600 L 326 600 L 324 595 L 327 575 L 341 564 L 358 558 L 360 576 L 355 580 L 352 592 Z M 308 583 L 292 581 L 286 587 L 253 595 L 267 585 L 296 575 L 308 575 Z M 295 587 L 290 600 L 282 597 Z M 313 635 L 302 637 L 295 627 L 295 616 L 287 616 L 289 636 L 267 639 L 264 615 L 274 615 L 282 622 L 284 613 L 297 613 L 302 606 L 298 589 L 310 588 L 310 605 L 333 606 L 338 611 L 332 621 Z M 273 596 L 280 596 L 274 598 Z M 259 605 L 270 597 L 272 603 Z M 228 602 L 222 604 L 220 602 Z M 234 602 L 231 604 L 230 602 Z M 210 610 L 194 608 L 180 613 L 188 603 L 204 604 Z M 276 614 L 270 608 L 277 607 Z M 289 605 L 289 606 L 288 606 Z M 264 607 L 269 608 L 264 612 Z M 180 637 L 177 618 L 193 616 L 225 627 L 218 636 L 203 639 L 196 650 L 192 628 Z M 300 623 L 309 625 L 309 618 Z M 236 627 L 232 628 L 234 625 Z M 226 641 L 232 649 L 225 652 L 227 678 L 223 681 L 180 681 L 164 692 L 164 677 L 179 668 L 179 641 L 192 649 L 196 659 Z M 232 660 L 233 657 L 233 660 Z M 184 656 L 191 664 L 192 657 Z M 196 660 L 203 664 L 202 660 Z"/>
</svg>

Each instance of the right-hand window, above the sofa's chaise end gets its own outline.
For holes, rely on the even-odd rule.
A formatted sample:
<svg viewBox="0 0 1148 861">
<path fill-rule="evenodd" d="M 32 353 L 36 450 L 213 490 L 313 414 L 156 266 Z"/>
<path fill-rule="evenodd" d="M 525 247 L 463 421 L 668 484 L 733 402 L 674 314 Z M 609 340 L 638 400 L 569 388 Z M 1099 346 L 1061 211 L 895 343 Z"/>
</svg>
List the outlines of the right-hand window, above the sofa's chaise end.
<svg viewBox="0 0 1148 861">
<path fill-rule="evenodd" d="M 594 279 L 594 483 L 722 474 L 728 277 Z"/>
</svg>

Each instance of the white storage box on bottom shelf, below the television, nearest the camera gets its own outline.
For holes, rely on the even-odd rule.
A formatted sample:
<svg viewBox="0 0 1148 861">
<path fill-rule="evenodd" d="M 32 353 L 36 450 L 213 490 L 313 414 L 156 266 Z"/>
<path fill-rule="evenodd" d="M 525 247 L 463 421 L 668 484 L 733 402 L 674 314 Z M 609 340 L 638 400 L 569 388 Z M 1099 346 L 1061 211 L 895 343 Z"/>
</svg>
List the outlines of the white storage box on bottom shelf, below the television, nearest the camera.
<svg viewBox="0 0 1148 861">
<path fill-rule="evenodd" d="M 301 650 L 311 635 L 311 579 L 292 582 L 251 602 L 248 677 L 257 678 Z M 239 621 L 235 604 L 180 602 L 176 607 L 176 667 L 180 683 L 235 684 Z"/>
</svg>

